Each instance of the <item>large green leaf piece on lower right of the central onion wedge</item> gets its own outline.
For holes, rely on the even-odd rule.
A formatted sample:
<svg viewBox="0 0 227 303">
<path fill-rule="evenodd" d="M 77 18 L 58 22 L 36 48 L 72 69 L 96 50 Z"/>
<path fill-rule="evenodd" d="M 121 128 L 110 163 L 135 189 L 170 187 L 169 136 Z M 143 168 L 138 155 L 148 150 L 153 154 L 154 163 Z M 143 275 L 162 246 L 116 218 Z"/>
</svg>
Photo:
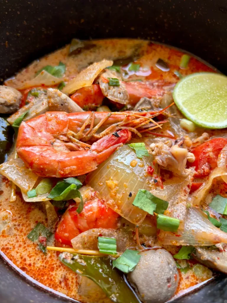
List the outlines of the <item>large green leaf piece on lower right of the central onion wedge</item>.
<svg viewBox="0 0 227 303">
<path fill-rule="evenodd" d="M 148 214 L 153 215 L 154 211 L 158 214 L 163 214 L 169 203 L 155 197 L 146 189 L 139 189 L 133 201 L 133 205 L 148 212 Z"/>
</svg>

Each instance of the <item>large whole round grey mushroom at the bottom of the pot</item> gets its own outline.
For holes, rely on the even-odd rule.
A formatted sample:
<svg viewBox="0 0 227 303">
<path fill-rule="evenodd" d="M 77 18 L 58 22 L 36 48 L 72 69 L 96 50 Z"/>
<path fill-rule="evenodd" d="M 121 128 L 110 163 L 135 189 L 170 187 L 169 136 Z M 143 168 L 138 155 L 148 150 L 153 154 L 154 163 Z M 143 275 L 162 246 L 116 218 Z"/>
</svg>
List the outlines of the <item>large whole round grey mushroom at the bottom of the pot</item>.
<svg viewBox="0 0 227 303">
<path fill-rule="evenodd" d="M 176 262 L 165 249 L 143 251 L 140 255 L 137 266 L 128 274 L 129 281 L 137 289 L 141 301 L 166 302 L 178 285 Z"/>
</svg>

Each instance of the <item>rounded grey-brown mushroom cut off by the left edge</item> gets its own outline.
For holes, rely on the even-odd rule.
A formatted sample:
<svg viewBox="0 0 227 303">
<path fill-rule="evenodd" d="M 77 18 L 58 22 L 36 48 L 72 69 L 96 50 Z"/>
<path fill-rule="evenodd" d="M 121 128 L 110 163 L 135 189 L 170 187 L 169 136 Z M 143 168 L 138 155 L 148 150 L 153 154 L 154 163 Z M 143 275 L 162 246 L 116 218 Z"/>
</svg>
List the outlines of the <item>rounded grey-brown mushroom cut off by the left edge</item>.
<svg viewBox="0 0 227 303">
<path fill-rule="evenodd" d="M 0 113 L 12 114 L 19 108 L 21 93 L 10 86 L 0 85 Z"/>
</svg>

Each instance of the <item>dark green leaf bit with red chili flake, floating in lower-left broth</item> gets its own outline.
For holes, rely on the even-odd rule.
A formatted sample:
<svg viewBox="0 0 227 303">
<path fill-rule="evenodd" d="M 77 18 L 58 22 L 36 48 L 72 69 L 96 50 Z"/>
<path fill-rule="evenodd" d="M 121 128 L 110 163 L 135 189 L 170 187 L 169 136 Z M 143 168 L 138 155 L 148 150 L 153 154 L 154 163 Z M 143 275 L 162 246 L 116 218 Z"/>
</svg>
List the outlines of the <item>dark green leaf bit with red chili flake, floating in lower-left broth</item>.
<svg viewBox="0 0 227 303">
<path fill-rule="evenodd" d="M 46 254 L 47 241 L 52 233 L 40 222 L 27 235 L 27 238 L 34 243 L 37 243 L 41 251 Z"/>
</svg>

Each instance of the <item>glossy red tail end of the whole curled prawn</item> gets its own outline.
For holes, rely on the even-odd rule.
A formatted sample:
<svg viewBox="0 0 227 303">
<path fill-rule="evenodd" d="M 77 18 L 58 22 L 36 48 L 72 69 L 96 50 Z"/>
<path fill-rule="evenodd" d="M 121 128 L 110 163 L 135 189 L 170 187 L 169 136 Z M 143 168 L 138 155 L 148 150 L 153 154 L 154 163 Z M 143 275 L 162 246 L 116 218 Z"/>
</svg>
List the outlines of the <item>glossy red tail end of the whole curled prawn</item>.
<svg viewBox="0 0 227 303">
<path fill-rule="evenodd" d="M 96 163 L 100 164 L 101 162 L 105 161 L 114 151 L 116 151 L 119 146 L 129 142 L 130 139 L 131 132 L 124 128 L 93 143 L 90 151 L 97 154 Z"/>
</svg>

